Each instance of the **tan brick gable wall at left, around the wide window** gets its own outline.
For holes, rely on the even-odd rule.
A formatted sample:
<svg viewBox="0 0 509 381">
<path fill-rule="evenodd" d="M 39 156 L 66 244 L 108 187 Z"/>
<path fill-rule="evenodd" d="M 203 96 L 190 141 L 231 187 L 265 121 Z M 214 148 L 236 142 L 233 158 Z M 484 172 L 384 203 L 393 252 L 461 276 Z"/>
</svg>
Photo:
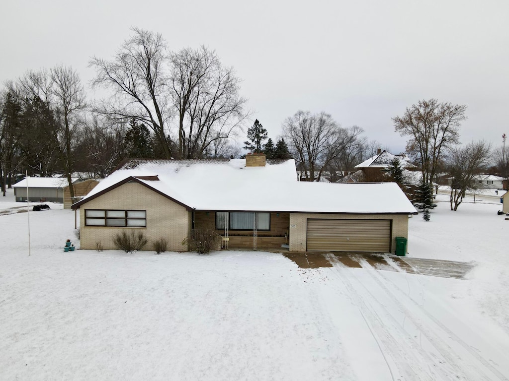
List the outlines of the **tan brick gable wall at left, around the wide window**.
<svg viewBox="0 0 509 381">
<path fill-rule="evenodd" d="M 146 228 L 114 228 L 103 226 L 85 226 L 84 211 L 86 209 L 121 209 L 146 210 Z M 80 215 L 80 247 L 95 249 L 96 242 L 101 242 L 104 249 L 115 249 L 113 238 L 122 231 L 141 231 L 149 239 L 144 248 L 152 250 L 151 241 L 165 238 L 168 250 L 185 251 L 187 246 L 182 241 L 190 233 L 190 212 L 183 206 L 153 192 L 142 184 L 127 183 L 108 193 L 101 195 L 79 208 Z"/>
</svg>

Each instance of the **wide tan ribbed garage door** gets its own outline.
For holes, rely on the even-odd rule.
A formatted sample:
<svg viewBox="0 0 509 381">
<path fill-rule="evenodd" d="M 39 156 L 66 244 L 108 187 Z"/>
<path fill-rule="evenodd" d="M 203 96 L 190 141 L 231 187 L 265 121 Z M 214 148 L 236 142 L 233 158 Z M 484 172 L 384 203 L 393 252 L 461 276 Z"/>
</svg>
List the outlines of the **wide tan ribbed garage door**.
<svg viewBox="0 0 509 381">
<path fill-rule="evenodd" d="M 390 252 L 389 219 L 307 219 L 308 251 Z"/>
</svg>

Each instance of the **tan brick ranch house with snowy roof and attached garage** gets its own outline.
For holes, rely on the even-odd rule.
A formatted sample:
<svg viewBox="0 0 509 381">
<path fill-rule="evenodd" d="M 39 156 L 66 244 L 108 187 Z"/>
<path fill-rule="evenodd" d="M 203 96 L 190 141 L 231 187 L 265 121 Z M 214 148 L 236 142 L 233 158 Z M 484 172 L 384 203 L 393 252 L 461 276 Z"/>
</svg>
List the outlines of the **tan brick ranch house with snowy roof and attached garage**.
<svg viewBox="0 0 509 381">
<path fill-rule="evenodd" d="M 300 182 L 294 160 L 266 163 L 264 155 L 132 160 L 72 208 L 83 249 L 97 242 L 114 249 L 116 234 L 136 230 L 175 251 L 187 250 L 182 241 L 196 230 L 211 229 L 230 249 L 393 252 L 417 213 L 395 183 Z"/>
</svg>

